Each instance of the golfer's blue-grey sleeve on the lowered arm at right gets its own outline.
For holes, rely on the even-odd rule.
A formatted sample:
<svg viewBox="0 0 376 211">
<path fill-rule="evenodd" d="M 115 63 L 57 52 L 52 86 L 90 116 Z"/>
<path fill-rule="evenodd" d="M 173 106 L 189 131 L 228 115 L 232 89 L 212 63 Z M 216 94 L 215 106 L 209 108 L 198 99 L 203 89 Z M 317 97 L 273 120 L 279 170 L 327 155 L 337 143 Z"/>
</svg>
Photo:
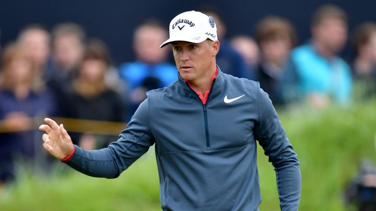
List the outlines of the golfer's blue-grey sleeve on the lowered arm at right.
<svg viewBox="0 0 376 211">
<path fill-rule="evenodd" d="M 301 172 L 294 152 L 268 94 L 258 85 L 258 121 L 255 137 L 276 171 L 281 211 L 297 211 L 301 195 Z"/>
</svg>

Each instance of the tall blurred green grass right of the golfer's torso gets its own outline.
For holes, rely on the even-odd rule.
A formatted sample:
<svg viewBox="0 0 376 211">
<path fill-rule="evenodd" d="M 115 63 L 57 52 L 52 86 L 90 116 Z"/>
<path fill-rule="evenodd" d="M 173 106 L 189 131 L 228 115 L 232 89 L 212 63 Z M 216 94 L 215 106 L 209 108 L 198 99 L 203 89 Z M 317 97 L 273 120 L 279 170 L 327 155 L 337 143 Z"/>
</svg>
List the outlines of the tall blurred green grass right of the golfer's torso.
<svg viewBox="0 0 376 211">
<path fill-rule="evenodd" d="M 299 110 L 280 114 L 298 154 L 302 172 L 302 211 L 344 211 L 343 193 L 363 159 L 376 164 L 376 104 L 351 109 Z M 273 170 L 258 151 L 263 202 L 260 210 L 279 210 Z"/>
</svg>

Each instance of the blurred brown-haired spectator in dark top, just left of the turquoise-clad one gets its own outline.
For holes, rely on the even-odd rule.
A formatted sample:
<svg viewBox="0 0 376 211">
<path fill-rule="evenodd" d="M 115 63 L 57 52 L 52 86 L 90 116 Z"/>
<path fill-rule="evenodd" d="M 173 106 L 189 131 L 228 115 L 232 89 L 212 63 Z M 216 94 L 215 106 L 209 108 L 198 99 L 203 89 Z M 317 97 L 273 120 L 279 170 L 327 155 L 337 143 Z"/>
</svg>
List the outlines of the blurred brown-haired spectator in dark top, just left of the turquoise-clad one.
<svg viewBox="0 0 376 211">
<path fill-rule="evenodd" d="M 256 39 L 261 52 L 257 71 L 260 86 L 269 94 L 273 105 L 285 105 L 296 96 L 293 93 L 296 72 L 287 68 L 291 65 L 288 62 L 290 51 L 297 42 L 295 29 L 290 21 L 269 16 L 258 21 Z"/>
</svg>

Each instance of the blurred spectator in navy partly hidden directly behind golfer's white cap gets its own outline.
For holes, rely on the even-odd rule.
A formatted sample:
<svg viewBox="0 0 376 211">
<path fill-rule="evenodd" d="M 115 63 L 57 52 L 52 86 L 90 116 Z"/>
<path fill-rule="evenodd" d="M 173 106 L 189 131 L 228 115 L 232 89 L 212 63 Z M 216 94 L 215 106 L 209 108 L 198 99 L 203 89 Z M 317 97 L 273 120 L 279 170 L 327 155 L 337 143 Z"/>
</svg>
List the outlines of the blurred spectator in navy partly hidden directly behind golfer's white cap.
<svg viewBox="0 0 376 211">
<path fill-rule="evenodd" d="M 220 17 L 220 12 L 212 5 L 203 5 L 198 11 L 211 16 L 217 27 L 218 41 L 221 43 L 221 48 L 216 56 L 217 64 L 221 67 L 224 73 L 231 74 L 238 78 L 253 79 L 254 74 L 252 70 L 247 69 L 247 65 L 244 63 L 240 54 L 235 51 L 230 42 L 225 38 L 226 25 Z"/>
</svg>

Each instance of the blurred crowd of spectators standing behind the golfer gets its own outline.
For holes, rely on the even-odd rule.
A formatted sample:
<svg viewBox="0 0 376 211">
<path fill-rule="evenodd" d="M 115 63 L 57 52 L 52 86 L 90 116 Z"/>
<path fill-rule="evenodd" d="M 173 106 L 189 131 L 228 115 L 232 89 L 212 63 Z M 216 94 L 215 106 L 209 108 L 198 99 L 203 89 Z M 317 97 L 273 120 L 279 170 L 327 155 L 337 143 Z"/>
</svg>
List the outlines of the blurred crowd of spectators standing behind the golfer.
<svg viewBox="0 0 376 211">
<path fill-rule="evenodd" d="M 312 15 L 311 38 L 298 45 L 294 25 L 283 17 L 264 17 L 254 34 L 227 39 L 220 13 L 212 7 L 198 10 L 217 24 L 220 69 L 258 81 L 277 109 L 348 107 L 355 84 L 362 99 L 376 94 L 375 22 L 349 32 L 346 12 L 322 5 Z M 159 48 L 167 30 L 156 19 L 142 22 L 133 33 L 136 60 L 115 64 L 106 43 L 87 37 L 76 23 L 60 23 L 51 31 L 37 24 L 22 29 L 0 52 L 0 181 L 14 178 L 16 161 L 34 162 L 43 155 L 34 117 L 126 123 L 146 91 L 174 82 L 178 72 L 168 59 L 171 50 Z M 353 61 L 339 56 L 348 42 L 356 54 Z M 86 149 L 117 140 L 79 128 L 70 134 Z"/>
</svg>

